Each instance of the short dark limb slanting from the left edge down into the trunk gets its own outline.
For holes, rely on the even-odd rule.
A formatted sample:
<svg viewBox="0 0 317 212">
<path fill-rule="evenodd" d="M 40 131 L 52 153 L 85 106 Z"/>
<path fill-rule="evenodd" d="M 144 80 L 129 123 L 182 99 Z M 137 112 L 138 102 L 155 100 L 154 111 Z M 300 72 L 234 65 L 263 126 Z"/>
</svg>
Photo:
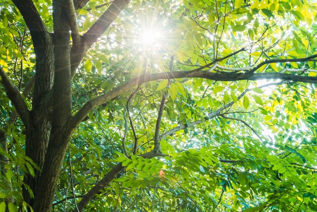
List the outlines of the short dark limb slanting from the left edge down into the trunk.
<svg viewBox="0 0 317 212">
<path fill-rule="evenodd" d="M 3 68 L 0 67 L 1 83 L 4 86 L 8 98 L 12 101 L 14 107 L 16 108 L 18 114 L 21 116 L 22 122 L 26 128 L 29 125 L 29 110 L 22 98 L 19 89 L 13 85 L 13 83 L 8 78 L 7 74 L 4 72 Z"/>
</svg>

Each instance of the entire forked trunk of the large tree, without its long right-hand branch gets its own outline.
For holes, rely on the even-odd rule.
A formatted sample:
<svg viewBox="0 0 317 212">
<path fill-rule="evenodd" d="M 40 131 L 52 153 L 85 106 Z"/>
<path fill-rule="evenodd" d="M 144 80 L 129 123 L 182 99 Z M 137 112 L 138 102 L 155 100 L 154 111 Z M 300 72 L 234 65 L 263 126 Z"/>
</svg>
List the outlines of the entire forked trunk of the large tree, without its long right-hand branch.
<svg viewBox="0 0 317 212">
<path fill-rule="evenodd" d="M 71 118 L 71 79 L 75 70 L 89 48 L 129 3 L 128 0 L 114 0 L 89 32 L 80 37 L 74 25 L 75 10 L 83 8 L 88 2 L 69 0 L 66 4 L 63 0 L 53 1 L 54 33 L 49 33 L 31 0 L 13 0 L 30 30 L 36 56 L 32 111 L 28 111 L 6 73 L 1 70 L 0 74 L 8 97 L 25 126 L 26 156 L 41 169 L 34 170 L 34 178 L 29 174 L 24 176 L 24 183 L 33 191 L 34 198 L 26 188 L 23 188 L 23 198 L 34 211 L 51 210 L 61 164 L 75 129 L 75 126 L 68 126 Z M 6 144 L 5 132 L 0 136 L 3 138 L 1 144 Z"/>
</svg>

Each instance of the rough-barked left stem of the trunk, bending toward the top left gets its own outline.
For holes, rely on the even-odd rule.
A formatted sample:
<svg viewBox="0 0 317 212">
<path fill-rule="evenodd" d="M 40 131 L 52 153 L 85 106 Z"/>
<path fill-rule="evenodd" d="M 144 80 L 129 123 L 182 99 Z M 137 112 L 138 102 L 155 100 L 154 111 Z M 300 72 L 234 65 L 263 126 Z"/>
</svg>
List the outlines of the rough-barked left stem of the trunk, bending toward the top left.
<svg viewBox="0 0 317 212">
<path fill-rule="evenodd" d="M 13 3 L 20 10 L 30 30 L 36 56 L 32 111 L 30 112 L 29 123 L 26 124 L 25 152 L 26 156 L 31 158 L 39 168 L 42 168 L 52 126 L 53 41 L 32 1 L 14 0 Z M 35 178 L 32 178 L 29 174 L 24 176 L 24 183 L 32 191 L 35 191 L 41 174 L 37 170 L 34 171 Z M 29 205 L 33 205 L 33 199 L 26 188 L 23 189 L 23 198 Z"/>
</svg>

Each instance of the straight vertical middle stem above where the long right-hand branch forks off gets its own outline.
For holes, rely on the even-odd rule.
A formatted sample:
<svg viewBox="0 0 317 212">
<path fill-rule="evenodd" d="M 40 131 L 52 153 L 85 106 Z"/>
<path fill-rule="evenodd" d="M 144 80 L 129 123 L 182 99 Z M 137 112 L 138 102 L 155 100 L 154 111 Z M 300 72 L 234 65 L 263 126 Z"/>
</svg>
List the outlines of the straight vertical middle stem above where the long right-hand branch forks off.
<svg viewBox="0 0 317 212">
<path fill-rule="evenodd" d="M 72 0 L 67 0 L 69 1 Z M 54 27 L 54 57 L 55 76 L 53 87 L 53 130 L 63 126 L 71 114 L 71 79 L 70 79 L 70 44 L 69 44 L 69 17 L 74 14 L 71 3 L 65 4 L 63 0 L 53 1 L 53 27 Z M 73 17 L 75 18 L 75 17 Z M 71 20 L 76 21 L 76 20 Z"/>
</svg>

